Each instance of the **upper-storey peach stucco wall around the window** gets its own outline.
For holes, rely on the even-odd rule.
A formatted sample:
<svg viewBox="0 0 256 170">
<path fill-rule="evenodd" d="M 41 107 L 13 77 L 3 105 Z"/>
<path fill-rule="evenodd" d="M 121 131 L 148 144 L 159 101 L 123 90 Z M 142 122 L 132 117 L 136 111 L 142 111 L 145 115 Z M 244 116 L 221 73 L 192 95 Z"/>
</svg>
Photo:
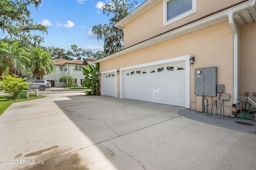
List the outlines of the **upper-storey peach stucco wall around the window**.
<svg viewBox="0 0 256 170">
<path fill-rule="evenodd" d="M 148 10 L 124 24 L 124 48 L 159 35 L 194 21 L 200 17 L 216 12 L 242 0 L 197 0 L 197 12 L 178 20 L 170 25 L 163 26 L 163 0 L 158 1 Z"/>
</svg>

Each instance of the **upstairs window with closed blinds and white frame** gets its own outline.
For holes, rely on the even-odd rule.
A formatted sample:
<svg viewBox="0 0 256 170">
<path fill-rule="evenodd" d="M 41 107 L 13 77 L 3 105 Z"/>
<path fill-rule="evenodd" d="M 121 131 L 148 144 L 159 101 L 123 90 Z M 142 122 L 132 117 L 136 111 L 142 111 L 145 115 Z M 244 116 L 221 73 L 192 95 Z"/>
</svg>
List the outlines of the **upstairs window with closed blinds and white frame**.
<svg viewBox="0 0 256 170">
<path fill-rule="evenodd" d="M 196 0 L 164 0 L 164 26 L 196 12 Z"/>
</svg>

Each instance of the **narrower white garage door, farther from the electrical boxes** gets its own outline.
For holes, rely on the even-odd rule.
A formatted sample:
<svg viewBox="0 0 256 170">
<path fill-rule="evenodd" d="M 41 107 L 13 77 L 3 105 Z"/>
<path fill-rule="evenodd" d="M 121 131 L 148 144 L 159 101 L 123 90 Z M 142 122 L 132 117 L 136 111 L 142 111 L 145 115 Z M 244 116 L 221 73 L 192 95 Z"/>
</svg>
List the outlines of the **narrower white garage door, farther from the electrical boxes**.
<svg viewBox="0 0 256 170">
<path fill-rule="evenodd" d="M 116 97 L 116 74 L 115 72 L 104 74 L 103 90 L 105 96 Z"/>
</svg>

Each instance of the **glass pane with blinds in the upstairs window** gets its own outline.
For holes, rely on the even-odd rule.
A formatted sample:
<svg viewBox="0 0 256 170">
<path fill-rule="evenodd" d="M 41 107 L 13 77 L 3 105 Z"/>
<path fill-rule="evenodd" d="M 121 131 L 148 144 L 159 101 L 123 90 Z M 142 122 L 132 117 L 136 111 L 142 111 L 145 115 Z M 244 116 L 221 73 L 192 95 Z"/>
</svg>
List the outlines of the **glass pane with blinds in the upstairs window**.
<svg viewBox="0 0 256 170">
<path fill-rule="evenodd" d="M 192 10 L 192 0 L 170 0 L 167 2 L 167 21 Z"/>
</svg>

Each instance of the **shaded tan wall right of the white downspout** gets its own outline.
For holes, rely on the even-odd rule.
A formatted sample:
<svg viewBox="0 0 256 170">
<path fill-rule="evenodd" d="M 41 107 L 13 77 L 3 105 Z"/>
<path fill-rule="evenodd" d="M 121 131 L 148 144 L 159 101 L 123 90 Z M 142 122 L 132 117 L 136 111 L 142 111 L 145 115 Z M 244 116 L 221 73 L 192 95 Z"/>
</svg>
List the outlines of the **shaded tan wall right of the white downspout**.
<svg viewBox="0 0 256 170">
<path fill-rule="evenodd" d="M 249 97 L 255 102 L 256 96 L 256 23 L 251 22 L 240 26 L 240 60 L 239 60 L 239 96 Z"/>
</svg>

